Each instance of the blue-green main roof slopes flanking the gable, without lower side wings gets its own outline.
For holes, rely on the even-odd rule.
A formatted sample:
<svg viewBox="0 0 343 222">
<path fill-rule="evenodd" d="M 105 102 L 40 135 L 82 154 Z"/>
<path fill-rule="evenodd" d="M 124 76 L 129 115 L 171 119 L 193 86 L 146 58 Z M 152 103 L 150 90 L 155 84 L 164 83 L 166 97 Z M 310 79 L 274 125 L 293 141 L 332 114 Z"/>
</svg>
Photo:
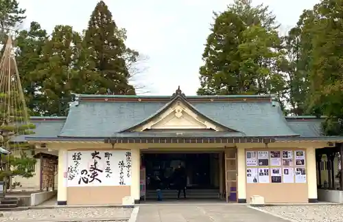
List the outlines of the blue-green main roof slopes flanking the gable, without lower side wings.
<svg viewBox="0 0 343 222">
<path fill-rule="evenodd" d="M 143 100 L 130 102 L 80 100 L 69 110 L 67 121 L 59 136 L 111 137 L 149 118 L 166 103 Z M 191 104 L 207 118 L 247 136 L 298 135 L 289 128 L 280 107 L 271 100 L 191 102 Z"/>
</svg>

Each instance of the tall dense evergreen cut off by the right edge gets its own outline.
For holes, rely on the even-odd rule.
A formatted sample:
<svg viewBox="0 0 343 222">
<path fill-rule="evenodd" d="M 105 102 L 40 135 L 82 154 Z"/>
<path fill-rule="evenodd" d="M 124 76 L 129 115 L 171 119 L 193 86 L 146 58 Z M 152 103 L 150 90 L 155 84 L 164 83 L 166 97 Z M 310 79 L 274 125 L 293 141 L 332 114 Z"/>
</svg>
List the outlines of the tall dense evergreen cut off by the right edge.
<svg viewBox="0 0 343 222">
<path fill-rule="evenodd" d="M 310 109 L 328 115 L 326 132 L 343 135 L 343 5 L 323 0 L 313 9 L 311 23 L 303 30 L 311 38 L 309 61 Z M 333 121 L 333 118 L 338 118 Z"/>
</svg>

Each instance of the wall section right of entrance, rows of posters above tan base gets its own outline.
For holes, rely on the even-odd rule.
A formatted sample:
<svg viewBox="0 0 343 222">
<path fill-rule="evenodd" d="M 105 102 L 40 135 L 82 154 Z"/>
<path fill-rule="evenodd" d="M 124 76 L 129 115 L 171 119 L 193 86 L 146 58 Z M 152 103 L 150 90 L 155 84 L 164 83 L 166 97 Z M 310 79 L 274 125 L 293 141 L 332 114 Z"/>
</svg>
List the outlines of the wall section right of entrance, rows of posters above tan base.
<svg viewBox="0 0 343 222">
<path fill-rule="evenodd" d="M 308 202 L 305 149 L 259 148 L 245 153 L 247 199 L 260 195 L 266 203 Z"/>
</svg>

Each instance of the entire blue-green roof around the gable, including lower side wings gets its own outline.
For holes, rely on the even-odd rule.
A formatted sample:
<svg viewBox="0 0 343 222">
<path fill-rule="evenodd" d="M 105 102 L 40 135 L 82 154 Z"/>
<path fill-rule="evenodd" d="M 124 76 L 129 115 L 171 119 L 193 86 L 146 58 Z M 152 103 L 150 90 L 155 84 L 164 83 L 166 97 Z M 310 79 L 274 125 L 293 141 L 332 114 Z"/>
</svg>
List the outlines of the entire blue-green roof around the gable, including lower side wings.
<svg viewBox="0 0 343 222">
<path fill-rule="evenodd" d="M 36 134 L 29 137 L 128 137 L 130 135 L 172 136 L 174 132 L 121 133 L 168 106 L 170 96 L 78 95 L 68 117 L 32 117 Z M 235 100 L 235 99 L 240 99 Z M 102 99 L 102 100 L 99 100 Z M 265 96 L 187 96 L 201 115 L 226 126 L 232 132 L 185 132 L 183 136 L 217 135 L 247 137 L 321 136 L 324 118 L 284 117 L 279 104 Z M 129 101 L 130 100 L 130 101 Z M 16 137 L 23 141 L 27 135 Z"/>
</svg>

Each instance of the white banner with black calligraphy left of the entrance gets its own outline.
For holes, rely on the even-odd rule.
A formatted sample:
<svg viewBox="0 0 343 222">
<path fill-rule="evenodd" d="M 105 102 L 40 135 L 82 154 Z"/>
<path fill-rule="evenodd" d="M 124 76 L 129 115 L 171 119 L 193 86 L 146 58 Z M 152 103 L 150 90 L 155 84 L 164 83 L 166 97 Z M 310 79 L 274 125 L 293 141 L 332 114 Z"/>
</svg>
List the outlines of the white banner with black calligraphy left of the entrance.
<svg viewBox="0 0 343 222">
<path fill-rule="evenodd" d="M 68 151 L 67 186 L 130 186 L 130 151 Z"/>
</svg>

